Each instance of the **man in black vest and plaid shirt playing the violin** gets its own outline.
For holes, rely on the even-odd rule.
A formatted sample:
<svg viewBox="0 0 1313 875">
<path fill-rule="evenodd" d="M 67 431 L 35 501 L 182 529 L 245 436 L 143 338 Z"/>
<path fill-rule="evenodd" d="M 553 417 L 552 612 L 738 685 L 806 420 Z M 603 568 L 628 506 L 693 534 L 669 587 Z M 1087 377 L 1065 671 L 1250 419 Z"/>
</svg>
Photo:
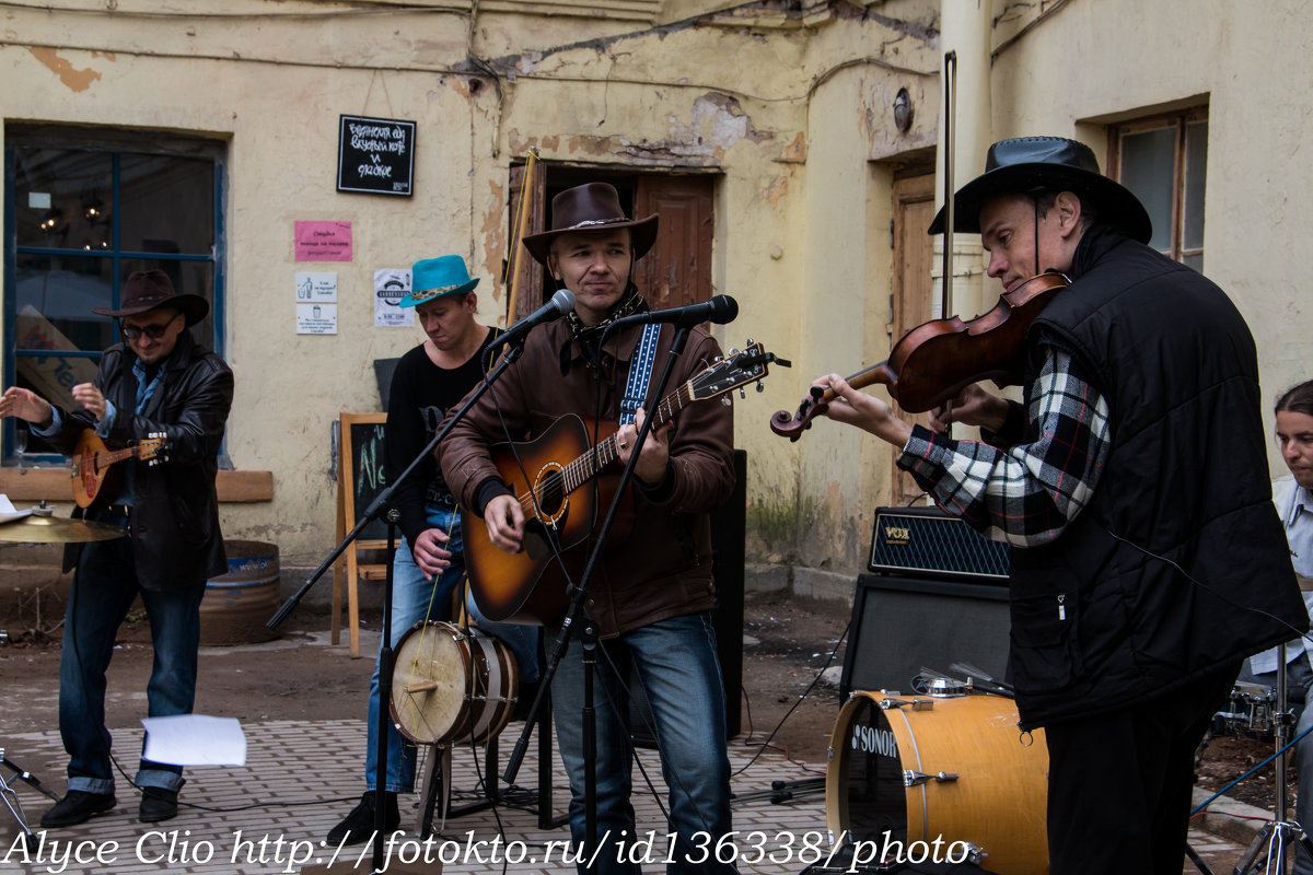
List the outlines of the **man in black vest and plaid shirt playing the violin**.
<svg viewBox="0 0 1313 875">
<path fill-rule="evenodd" d="M 1049 748 L 1049 871 L 1180 872 L 1213 712 L 1246 656 L 1309 627 L 1254 341 L 1216 285 L 1146 245 L 1144 206 L 1081 143 L 995 143 L 955 210 L 1004 289 L 1070 279 L 1027 333 L 1023 401 L 970 386 L 926 429 L 836 374 L 815 384 L 827 416 L 901 447 L 940 508 L 1014 547 L 1008 674 Z"/>
</svg>

